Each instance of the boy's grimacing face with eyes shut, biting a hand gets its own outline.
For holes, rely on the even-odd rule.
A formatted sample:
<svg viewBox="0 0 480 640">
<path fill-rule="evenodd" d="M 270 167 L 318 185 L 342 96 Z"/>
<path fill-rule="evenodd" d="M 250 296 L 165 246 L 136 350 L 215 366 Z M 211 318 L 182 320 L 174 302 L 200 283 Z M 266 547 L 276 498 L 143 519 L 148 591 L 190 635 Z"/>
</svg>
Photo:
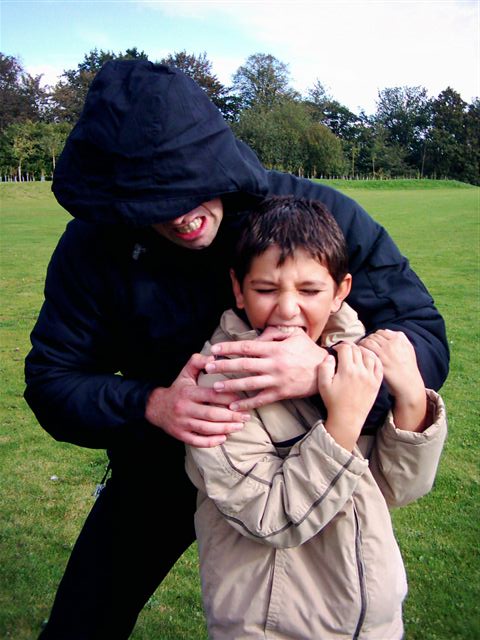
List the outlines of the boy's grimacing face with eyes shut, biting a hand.
<svg viewBox="0 0 480 640">
<path fill-rule="evenodd" d="M 254 258 L 243 286 L 231 273 L 237 307 L 245 309 L 254 329 L 272 326 L 290 333 L 300 327 L 316 342 L 348 295 L 351 276 L 337 286 L 328 269 L 303 249 L 282 265 L 279 257 L 280 249 L 272 246 Z"/>
</svg>

